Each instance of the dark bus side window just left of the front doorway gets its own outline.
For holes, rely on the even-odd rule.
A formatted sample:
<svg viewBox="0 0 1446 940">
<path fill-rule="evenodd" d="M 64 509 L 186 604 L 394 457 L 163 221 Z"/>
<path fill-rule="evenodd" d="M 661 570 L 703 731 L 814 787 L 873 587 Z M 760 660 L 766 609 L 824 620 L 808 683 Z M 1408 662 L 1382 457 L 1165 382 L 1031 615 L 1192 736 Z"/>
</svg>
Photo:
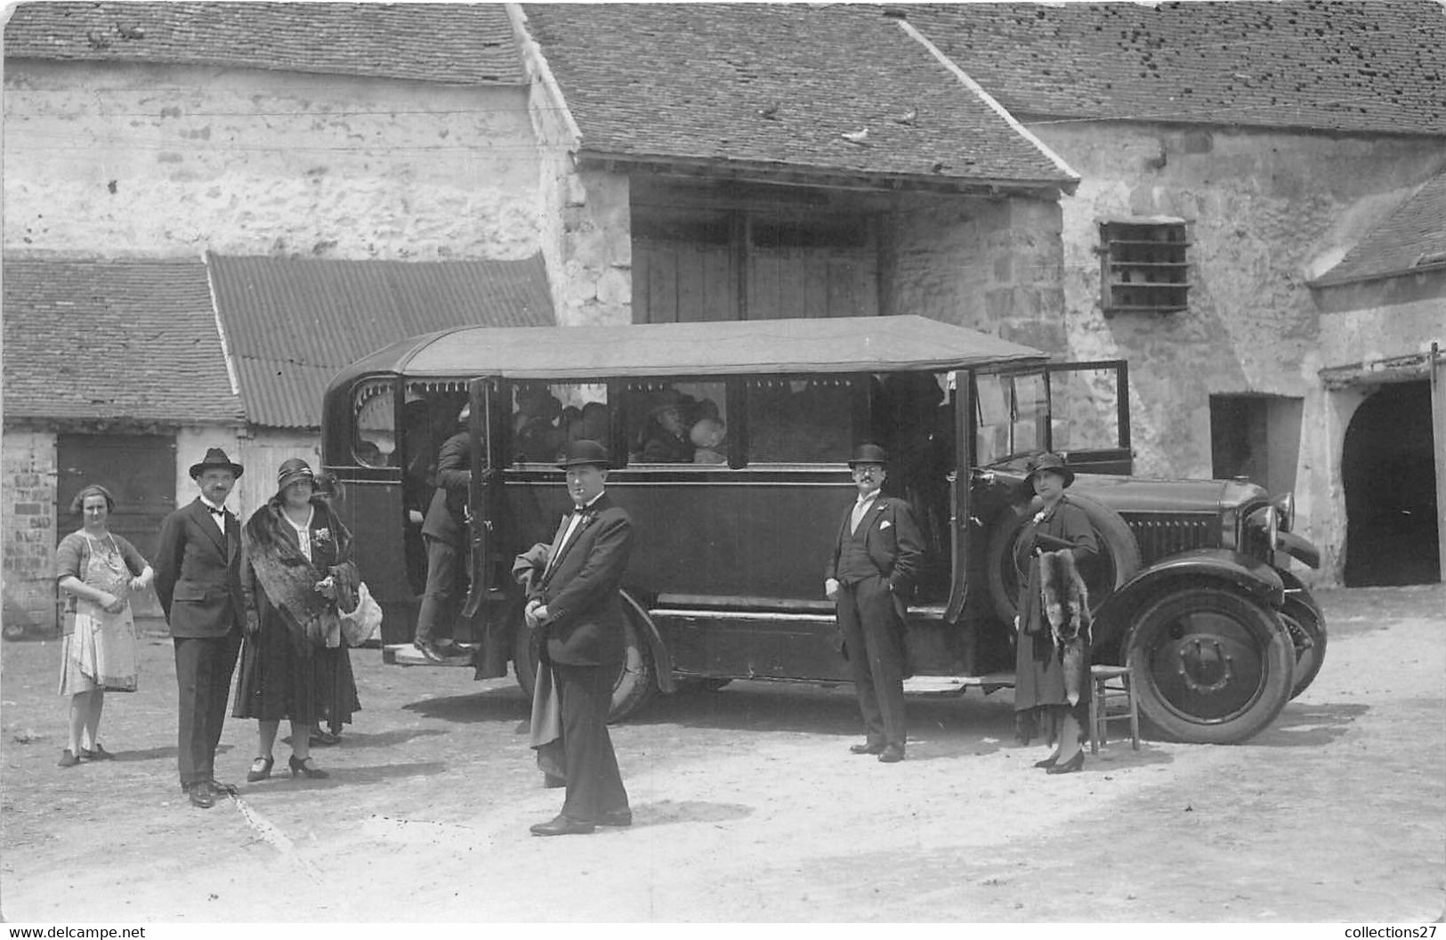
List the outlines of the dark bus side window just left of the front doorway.
<svg viewBox="0 0 1446 940">
<path fill-rule="evenodd" d="M 853 380 L 749 379 L 749 463 L 844 463 L 855 444 Z"/>
</svg>

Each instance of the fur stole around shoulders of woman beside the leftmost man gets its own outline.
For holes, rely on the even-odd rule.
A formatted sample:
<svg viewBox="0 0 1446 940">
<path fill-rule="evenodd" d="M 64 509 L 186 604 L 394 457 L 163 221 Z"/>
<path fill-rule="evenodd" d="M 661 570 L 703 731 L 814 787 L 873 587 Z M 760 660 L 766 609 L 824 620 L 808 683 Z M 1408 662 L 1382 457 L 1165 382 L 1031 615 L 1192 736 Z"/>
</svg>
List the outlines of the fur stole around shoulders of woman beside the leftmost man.
<svg viewBox="0 0 1446 940">
<path fill-rule="evenodd" d="M 314 497 L 317 518 L 324 525 L 312 529 L 314 539 L 335 541 L 335 564 L 321 568 L 296 547 L 291 524 L 282 518 L 275 499 L 252 513 L 241 532 L 247 563 L 256 573 L 260 589 L 276 607 L 291 632 L 292 645 L 309 655 L 312 649 L 341 645 L 341 619 L 337 607 L 353 610 L 359 583 L 351 563 L 351 534 L 331 510 L 325 499 Z M 315 552 L 315 548 L 314 548 Z M 315 590 L 317 583 L 330 577 L 337 589 L 331 600 Z"/>
</svg>

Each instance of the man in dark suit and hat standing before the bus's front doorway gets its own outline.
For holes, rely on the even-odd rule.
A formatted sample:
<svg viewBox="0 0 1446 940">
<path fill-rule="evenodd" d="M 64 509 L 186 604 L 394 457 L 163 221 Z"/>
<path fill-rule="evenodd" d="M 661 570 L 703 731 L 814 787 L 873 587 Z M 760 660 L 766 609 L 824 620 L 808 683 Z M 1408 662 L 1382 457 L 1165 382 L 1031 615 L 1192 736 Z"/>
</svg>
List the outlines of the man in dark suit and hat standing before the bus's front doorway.
<svg viewBox="0 0 1446 940">
<path fill-rule="evenodd" d="M 849 748 L 885 764 L 904 759 L 904 632 L 908 599 L 924 560 L 908 503 L 882 496 L 888 454 L 862 444 L 849 460 L 857 497 L 839 526 L 824 571 L 824 594 L 836 602 L 844 655 L 859 696 L 866 739 Z"/>
</svg>

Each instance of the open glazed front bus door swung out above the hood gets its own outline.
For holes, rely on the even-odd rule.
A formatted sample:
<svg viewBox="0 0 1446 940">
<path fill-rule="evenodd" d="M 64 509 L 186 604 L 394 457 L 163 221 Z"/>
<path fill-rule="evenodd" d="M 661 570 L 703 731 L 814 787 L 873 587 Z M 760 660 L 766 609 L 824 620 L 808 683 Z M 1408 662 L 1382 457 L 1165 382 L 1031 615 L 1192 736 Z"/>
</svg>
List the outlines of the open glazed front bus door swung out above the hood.
<svg viewBox="0 0 1446 940">
<path fill-rule="evenodd" d="M 1122 359 L 1050 363 L 1048 448 L 1076 473 L 1134 473 L 1129 366 Z"/>
</svg>

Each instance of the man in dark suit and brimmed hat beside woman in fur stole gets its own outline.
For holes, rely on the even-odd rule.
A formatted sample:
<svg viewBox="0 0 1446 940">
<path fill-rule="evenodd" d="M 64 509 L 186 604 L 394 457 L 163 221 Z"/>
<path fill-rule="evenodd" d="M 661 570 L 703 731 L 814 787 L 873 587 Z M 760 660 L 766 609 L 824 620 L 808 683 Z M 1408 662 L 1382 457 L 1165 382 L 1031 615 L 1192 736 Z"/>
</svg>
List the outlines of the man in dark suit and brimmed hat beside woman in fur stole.
<svg viewBox="0 0 1446 940">
<path fill-rule="evenodd" d="M 191 806 L 202 810 L 234 787 L 215 779 L 215 746 L 246 625 L 241 526 L 226 509 L 241 466 L 213 447 L 191 467 L 201 495 L 161 524 L 156 596 L 175 642 L 179 723 L 176 762 Z"/>
</svg>

